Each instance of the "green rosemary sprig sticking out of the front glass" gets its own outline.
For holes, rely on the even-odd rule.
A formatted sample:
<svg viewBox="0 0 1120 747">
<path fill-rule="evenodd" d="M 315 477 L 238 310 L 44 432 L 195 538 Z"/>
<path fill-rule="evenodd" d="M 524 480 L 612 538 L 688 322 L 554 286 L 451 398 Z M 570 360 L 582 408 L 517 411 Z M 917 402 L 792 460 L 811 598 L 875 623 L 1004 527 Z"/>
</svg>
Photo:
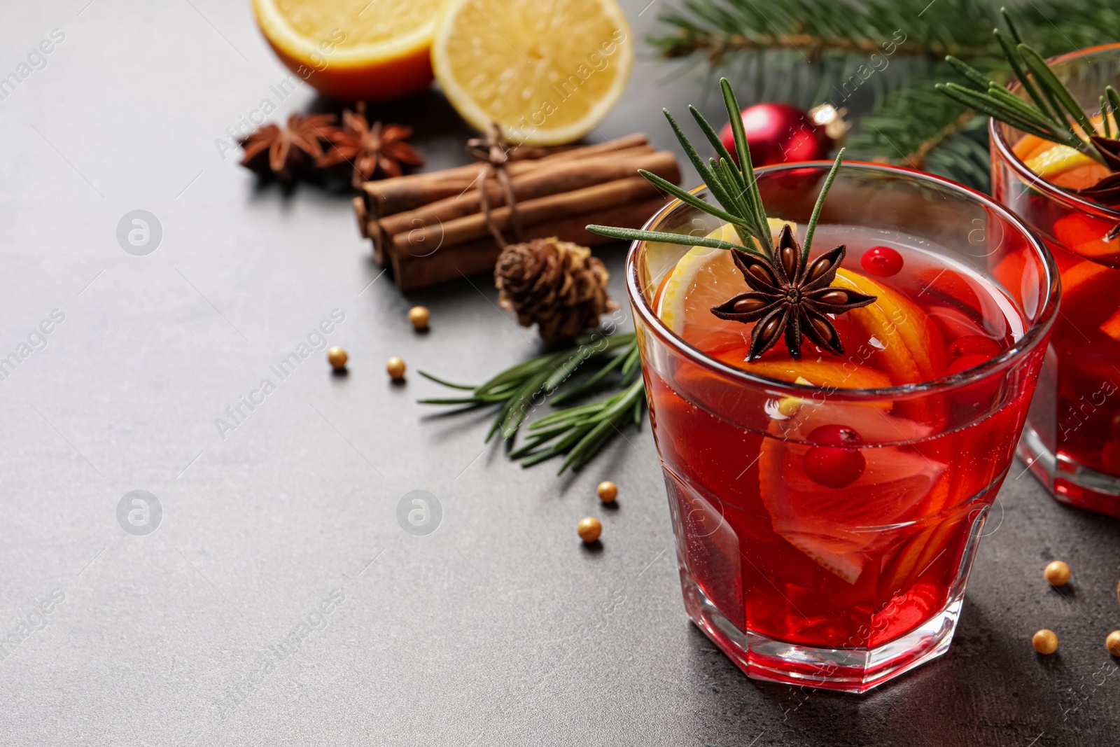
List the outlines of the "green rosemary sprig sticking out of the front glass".
<svg viewBox="0 0 1120 747">
<path fill-rule="evenodd" d="M 696 106 L 689 106 L 689 113 L 692 114 L 692 118 L 703 131 L 704 137 L 716 150 L 718 159 L 709 158 L 704 160 L 692 142 L 689 141 L 680 125 L 676 124 L 676 120 L 669 113 L 669 110 L 663 110 L 665 119 L 669 120 L 670 127 L 673 128 L 673 134 L 676 136 L 689 160 L 692 161 L 692 166 L 696 167 L 697 172 L 708 186 L 719 206 L 717 207 L 711 203 L 700 199 L 696 195 L 662 179 L 655 174 L 651 174 L 644 169 L 638 169 L 638 174 L 685 205 L 690 205 L 698 211 L 703 211 L 708 215 L 712 215 L 730 224 L 735 228 L 736 234 L 738 234 L 740 243 L 736 244 L 719 239 L 697 237 L 688 234 L 619 228 L 604 225 L 589 225 L 587 226 L 588 231 L 625 241 L 655 241 L 666 244 L 682 244 L 684 246 L 710 246 L 711 249 L 737 250 L 768 261 L 774 260 L 774 241 L 771 236 L 769 225 L 766 223 L 766 207 L 763 205 L 762 194 L 758 192 L 758 180 L 755 179 L 754 166 L 750 162 L 750 149 L 747 146 L 746 132 L 743 129 L 739 102 L 735 97 L 731 84 L 726 77 L 719 80 L 719 85 L 724 93 L 724 105 L 727 108 L 731 132 L 735 136 L 735 155 L 738 165 L 736 165 L 736 159 L 732 159 L 727 148 L 724 147 L 719 136 L 716 134 L 716 129 L 703 118 Z M 840 160 L 842 158 L 843 148 L 840 149 L 836 161 L 832 164 L 832 170 L 829 171 L 824 188 L 821 189 L 818 197 L 813 216 L 805 228 L 805 243 L 801 248 L 802 260 L 809 259 L 809 250 L 813 241 L 816 220 L 820 217 L 824 196 L 828 194 L 829 187 L 832 186 L 832 180 L 836 178 L 837 169 L 840 168 Z"/>
</svg>

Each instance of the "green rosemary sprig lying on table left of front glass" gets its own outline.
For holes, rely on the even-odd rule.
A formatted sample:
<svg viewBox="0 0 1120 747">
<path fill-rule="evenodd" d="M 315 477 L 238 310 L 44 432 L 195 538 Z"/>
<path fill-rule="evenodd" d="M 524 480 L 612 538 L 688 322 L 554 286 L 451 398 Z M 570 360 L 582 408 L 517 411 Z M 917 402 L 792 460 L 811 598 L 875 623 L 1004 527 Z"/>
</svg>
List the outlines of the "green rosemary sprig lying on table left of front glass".
<svg viewBox="0 0 1120 747">
<path fill-rule="evenodd" d="M 598 370 L 587 379 L 575 381 L 573 374 L 585 364 L 598 366 Z M 642 422 L 645 386 L 634 333 L 605 335 L 595 332 L 585 335 L 577 338 L 571 347 L 530 358 L 477 386 L 456 384 L 421 371 L 420 375 L 438 384 L 469 394 L 420 402 L 458 404 L 463 405 L 463 410 L 501 405 L 486 433 L 486 441 L 498 433 L 504 440 L 512 441 L 530 412 L 545 399 L 552 407 L 572 402 L 615 383 L 610 380 L 614 372 L 620 375 L 617 385 L 622 391 L 535 420 L 526 428 L 525 442 L 510 451 L 510 458 L 520 459 L 523 467 L 566 455 L 560 465 L 562 474 L 569 467 L 579 469 L 590 461 L 625 426 Z"/>
</svg>

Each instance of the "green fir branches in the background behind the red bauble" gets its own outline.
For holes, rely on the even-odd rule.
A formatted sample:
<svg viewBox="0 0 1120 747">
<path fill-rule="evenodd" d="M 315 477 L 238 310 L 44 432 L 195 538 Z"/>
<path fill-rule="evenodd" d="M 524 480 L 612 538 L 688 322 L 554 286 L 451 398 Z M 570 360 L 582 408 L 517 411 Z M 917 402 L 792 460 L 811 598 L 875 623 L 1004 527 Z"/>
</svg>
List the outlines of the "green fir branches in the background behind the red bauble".
<svg viewBox="0 0 1120 747">
<path fill-rule="evenodd" d="M 969 116 L 968 106 L 932 86 L 939 81 L 967 82 L 942 62 L 946 54 L 968 60 L 999 84 L 1015 75 L 1004 58 L 1006 41 L 992 35 L 1006 1 L 684 0 L 662 15 L 648 41 L 665 57 L 691 56 L 712 71 L 734 71 L 732 80 L 753 82 L 755 100 L 808 108 L 836 95 L 830 83 L 843 82 L 840 95 L 847 96 L 852 87 L 848 81 L 858 82 L 856 88 L 868 81 L 871 112 L 857 121 L 849 137 L 852 157 L 920 165 L 986 189 L 987 118 Z M 1044 57 L 1120 38 L 1120 8 L 1114 4 L 1011 4 L 1016 31 Z M 1019 41 L 1012 36 L 1012 46 Z M 883 69 L 877 67 L 868 78 L 874 54 L 886 57 L 888 65 L 880 62 Z M 832 103 L 842 105 L 839 100 Z"/>
</svg>

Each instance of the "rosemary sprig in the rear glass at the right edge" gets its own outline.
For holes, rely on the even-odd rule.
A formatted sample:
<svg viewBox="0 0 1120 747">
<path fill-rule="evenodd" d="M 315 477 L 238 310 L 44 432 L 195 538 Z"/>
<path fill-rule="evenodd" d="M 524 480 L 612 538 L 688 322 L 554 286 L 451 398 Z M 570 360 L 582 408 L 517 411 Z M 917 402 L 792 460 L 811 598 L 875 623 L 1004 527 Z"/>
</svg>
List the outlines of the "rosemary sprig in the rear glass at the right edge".
<svg viewBox="0 0 1120 747">
<path fill-rule="evenodd" d="M 995 29 L 992 35 L 1029 101 L 1020 99 L 952 55 L 945 57 L 945 60 L 968 80 L 971 87 L 959 83 L 937 83 L 935 87 L 950 99 L 1021 132 L 1067 146 L 1113 171 L 1118 170 L 1120 159 L 1114 155 L 1116 148 L 1110 149 L 1108 146 L 1112 138 L 1109 113 L 1112 113 L 1113 119 L 1118 116 L 1120 93 L 1109 85 L 1100 96 L 1104 133 L 1104 138 L 1100 138 L 1070 88 L 1047 67 L 1043 56 L 1019 37 L 1007 8 L 1001 8 L 1000 12 L 1007 22 L 1008 34 Z"/>
</svg>

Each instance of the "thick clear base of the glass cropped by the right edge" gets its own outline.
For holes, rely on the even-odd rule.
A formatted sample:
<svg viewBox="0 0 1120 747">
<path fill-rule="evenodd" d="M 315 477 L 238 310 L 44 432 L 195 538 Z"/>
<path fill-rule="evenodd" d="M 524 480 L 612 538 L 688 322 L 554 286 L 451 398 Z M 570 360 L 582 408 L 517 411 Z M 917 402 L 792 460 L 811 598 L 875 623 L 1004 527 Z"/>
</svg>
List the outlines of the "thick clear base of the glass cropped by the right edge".
<svg viewBox="0 0 1120 747">
<path fill-rule="evenodd" d="M 1029 424 L 1023 429 L 1017 454 L 1062 503 L 1120 517 L 1120 477 L 1086 467 L 1064 454 L 1055 456 Z"/>
</svg>

